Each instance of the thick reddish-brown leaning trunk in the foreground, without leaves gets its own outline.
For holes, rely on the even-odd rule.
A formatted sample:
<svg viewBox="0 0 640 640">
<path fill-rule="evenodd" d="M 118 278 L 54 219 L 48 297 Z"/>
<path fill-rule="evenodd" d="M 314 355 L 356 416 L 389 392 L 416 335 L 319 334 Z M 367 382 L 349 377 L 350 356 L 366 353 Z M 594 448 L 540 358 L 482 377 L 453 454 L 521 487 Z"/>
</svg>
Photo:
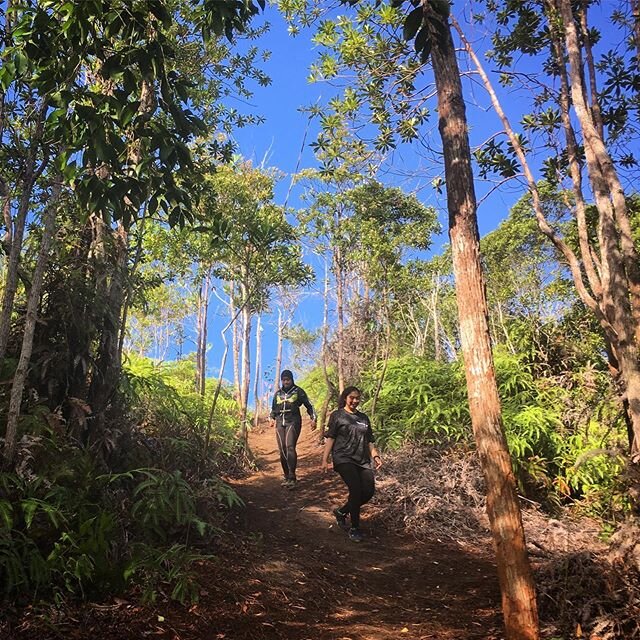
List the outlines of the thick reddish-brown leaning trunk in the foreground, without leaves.
<svg viewBox="0 0 640 640">
<path fill-rule="evenodd" d="M 449 236 L 469 412 L 487 486 L 502 610 L 509 640 L 537 640 L 535 587 L 500 413 L 480 263 L 476 197 L 460 71 L 447 19 L 423 4 L 432 38 Z"/>
</svg>

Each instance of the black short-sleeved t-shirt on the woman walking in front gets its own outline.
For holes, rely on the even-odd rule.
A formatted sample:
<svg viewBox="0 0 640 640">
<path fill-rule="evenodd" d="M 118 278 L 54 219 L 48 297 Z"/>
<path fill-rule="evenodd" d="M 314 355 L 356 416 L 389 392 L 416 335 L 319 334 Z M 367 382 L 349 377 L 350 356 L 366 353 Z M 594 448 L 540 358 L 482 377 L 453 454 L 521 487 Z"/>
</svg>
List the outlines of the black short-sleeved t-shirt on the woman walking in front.
<svg viewBox="0 0 640 640">
<path fill-rule="evenodd" d="M 371 464 L 369 443 L 375 442 L 371 430 L 371 422 L 364 413 L 349 413 L 346 409 L 338 409 L 329 417 L 327 438 L 333 438 L 331 455 L 333 466 L 349 462 L 360 467 Z"/>
</svg>

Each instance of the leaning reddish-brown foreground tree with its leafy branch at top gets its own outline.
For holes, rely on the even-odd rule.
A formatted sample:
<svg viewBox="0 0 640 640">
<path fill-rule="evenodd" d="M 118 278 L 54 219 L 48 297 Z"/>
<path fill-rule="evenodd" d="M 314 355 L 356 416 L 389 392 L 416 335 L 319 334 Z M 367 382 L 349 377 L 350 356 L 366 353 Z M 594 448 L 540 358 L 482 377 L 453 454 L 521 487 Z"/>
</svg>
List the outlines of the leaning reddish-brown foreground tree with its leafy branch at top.
<svg viewBox="0 0 640 640">
<path fill-rule="evenodd" d="M 285 9 L 295 10 L 294 2 Z M 359 4 L 359 3 L 358 3 Z M 401 4 L 401 3 L 395 3 Z M 535 589 L 526 553 L 515 479 L 500 414 L 479 255 L 476 198 L 465 114 L 455 48 L 448 23 L 449 3 L 412 3 L 403 20 L 403 37 L 414 41 L 420 60 L 411 60 L 401 38 L 384 38 L 398 23 L 397 9 L 363 3 L 353 20 L 322 23 L 318 38 L 336 53 L 323 57 L 321 73 L 337 76 L 356 70 L 357 82 L 333 104 L 347 119 L 365 106 L 370 122 L 378 125 L 377 145 L 394 146 L 396 136 L 411 139 L 427 113 L 408 101 L 420 95 L 415 81 L 422 63 L 433 62 L 439 130 L 442 138 L 449 211 L 449 233 L 456 280 L 460 336 L 465 361 L 472 425 L 487 484 L 487 509 L 494 536 L 507 637 L 538 637 Z M 356 28 L 353 27 L 356 23 Z M 375 23 L 381 30 L 375 29 Z M 391 27 L 391 29 L 390 29 Z M 393 110 L 389 108 L 389 104 Z M 395 114 L 396 120 L 392 119 Z M 328 116 L 327 116 L 328 118 Z"/>
</svg>

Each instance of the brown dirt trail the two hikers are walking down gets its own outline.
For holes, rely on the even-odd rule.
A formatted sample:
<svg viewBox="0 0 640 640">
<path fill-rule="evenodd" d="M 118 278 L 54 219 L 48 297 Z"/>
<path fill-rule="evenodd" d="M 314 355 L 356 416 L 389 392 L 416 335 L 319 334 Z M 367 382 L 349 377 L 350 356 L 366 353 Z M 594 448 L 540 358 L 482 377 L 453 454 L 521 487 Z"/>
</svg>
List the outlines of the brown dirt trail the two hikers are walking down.
<svg viewBox="0 0 640 640">
<path fill-rule="evenodd" d="M 294 490 L 280 486 L 268 426 L 252 433 L 250 446 L 259 470 L 235 483 L 246 503 L 236 525 L 247 547 L 247 582 L 243 597 L 236 598 L 240 615 L 217 637 L 502 637 L 496 571 L 486 549 L 476 556 L 435 540 L 418 544 L 401 527 L 390 531 L 388 523 L 382 525 L 375 498 L 363 508 L 365 542 L 355 544 L 331 515 L 346 492 L 337 474 L 320 470 L 317 433 L 304 425 Z"/>
</svg>

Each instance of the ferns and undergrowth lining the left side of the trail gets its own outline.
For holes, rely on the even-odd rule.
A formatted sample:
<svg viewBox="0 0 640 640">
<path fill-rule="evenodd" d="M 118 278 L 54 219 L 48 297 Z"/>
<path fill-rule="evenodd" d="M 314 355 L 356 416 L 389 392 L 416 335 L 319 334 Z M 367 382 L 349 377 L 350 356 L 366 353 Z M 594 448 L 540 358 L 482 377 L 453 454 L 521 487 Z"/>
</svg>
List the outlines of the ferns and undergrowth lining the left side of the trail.
<svg viewBox="0 0 640 640">
<path fill-rule="evenodd" d="M 235 464 L 237 407 L 223 395 L 203 460 L 208 399 L 179 391 L 193 364 L 129 365 L 123 396 L 138 427 L 120 435 L 110 468 L 41 425 L 21 442 L 19 474 L 0 474 L 6 596 L 88 597 L 139 581 L 151 599 L 167 585 L 180 601 L 197 598 L 191 567 L 204 556 L 193 545 L 210 542 L 223 510 L 241 504 L 219 477 Z"/>
</svg>

